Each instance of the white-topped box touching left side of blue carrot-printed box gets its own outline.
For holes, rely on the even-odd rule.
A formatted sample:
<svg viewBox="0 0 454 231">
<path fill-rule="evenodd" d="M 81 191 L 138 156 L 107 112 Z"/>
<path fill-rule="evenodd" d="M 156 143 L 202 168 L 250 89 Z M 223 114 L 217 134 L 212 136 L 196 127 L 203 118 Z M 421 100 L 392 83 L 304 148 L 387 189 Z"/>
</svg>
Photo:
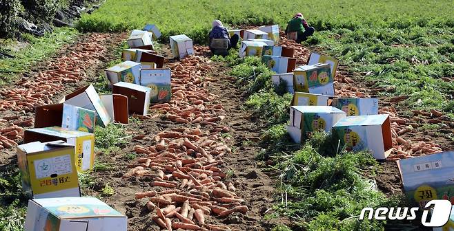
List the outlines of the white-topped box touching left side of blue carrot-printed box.
<svg viewBox="0 0 454 231">
<path fill-rule="evenodd" d="M 137 58 L 137 54 L 135 57 Z M 105 69 L 104 72 L 111 85 L 118 82 L 139 83 L 140 67 L 140 63 L 124 61 Z"/>
</svg>

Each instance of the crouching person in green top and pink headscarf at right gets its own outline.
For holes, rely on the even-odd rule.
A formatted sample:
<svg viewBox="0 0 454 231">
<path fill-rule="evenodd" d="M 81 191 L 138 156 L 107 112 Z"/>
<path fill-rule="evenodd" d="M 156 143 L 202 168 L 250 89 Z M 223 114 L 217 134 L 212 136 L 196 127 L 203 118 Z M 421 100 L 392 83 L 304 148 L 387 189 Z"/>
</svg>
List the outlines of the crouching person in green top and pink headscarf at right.
<svg viewBox="0 0 454 231">
<path fill-rule="evenodd" d="M 293 17 L 293 19 L 291 19 L 287 23 L 287 39 L 293 39 L 297 43 L 305 41 L 308 36 L 313 35 L 314 32 L 315 28 L 308 25 L 302 13 L 295 14 L 295 17 Z"/>
</svg>

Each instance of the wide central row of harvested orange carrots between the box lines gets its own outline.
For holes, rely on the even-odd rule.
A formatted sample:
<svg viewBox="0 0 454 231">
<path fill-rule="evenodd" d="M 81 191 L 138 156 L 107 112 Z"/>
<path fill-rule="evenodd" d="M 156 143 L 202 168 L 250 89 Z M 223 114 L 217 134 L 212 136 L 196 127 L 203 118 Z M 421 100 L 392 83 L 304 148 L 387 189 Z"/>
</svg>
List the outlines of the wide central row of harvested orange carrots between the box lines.
<svg viewBox="0 0 454 231">
<path fill-rule="evenodd" d="M 171 65 L 172 98 L 169 103 L 151 108 L 164 113 L 176 124 L 195 124 L 162 131 L 155 135 L 155 145 L 135 146 L 141 156 L 129 164 L 124 178 L 152 177 L 152 190 L 137 192 L 136 199 L 148 197 L 148 210 L 160 228 L 172 230 L 230 230 L 226 225 L 209 224 L 208 216 L 227 217 L 234 212 L 246 214 L 248 207 L 237 197 L 236 188 L 226 180 L 223 156 L 232 151 L 220 133 L 228 126 L 219 124 L 226 118 L 217 96 L 204 87 L 216 81 L 204 77 L 210 71 L 207 58 L 190 56 Z"/>
</svg>

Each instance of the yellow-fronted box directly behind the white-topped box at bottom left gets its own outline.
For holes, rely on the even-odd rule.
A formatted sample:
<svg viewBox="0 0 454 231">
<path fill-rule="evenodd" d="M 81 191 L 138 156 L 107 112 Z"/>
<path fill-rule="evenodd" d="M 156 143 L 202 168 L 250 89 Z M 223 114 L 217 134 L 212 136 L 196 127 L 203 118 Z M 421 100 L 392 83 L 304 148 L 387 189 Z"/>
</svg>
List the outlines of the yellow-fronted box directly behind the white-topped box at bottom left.
<svg viewBox="0 0 454 231">
<path fill-rule="evenodd" d="M 75 147 L 61 140 L 17 146 L 22 188 L 29 197 L 80 197 Z"/>
</svg>

